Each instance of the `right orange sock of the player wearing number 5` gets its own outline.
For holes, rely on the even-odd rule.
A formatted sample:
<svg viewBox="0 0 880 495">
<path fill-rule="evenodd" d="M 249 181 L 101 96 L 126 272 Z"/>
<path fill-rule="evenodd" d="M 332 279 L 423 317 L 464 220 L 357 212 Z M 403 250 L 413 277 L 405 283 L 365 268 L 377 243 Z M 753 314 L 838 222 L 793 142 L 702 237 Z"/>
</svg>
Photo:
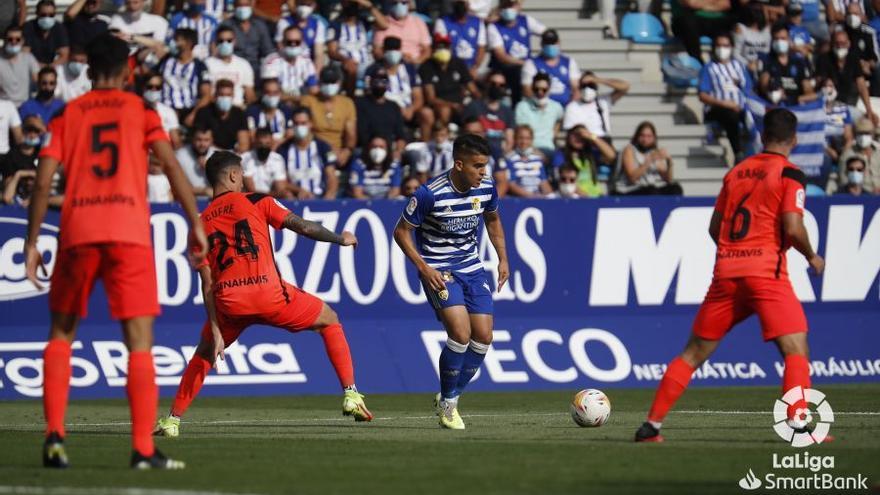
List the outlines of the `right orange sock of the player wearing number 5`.
<svg viewBox="0 0 880 495">
<path fill-rule="evenodd" d="M 153 447 L 153 424 L 159 407 L 159 387 L 150 351 L 135 351 L 128 355 L 128 406 L 131 411 L 132 448 L 150 457 Z"/>
</svg>

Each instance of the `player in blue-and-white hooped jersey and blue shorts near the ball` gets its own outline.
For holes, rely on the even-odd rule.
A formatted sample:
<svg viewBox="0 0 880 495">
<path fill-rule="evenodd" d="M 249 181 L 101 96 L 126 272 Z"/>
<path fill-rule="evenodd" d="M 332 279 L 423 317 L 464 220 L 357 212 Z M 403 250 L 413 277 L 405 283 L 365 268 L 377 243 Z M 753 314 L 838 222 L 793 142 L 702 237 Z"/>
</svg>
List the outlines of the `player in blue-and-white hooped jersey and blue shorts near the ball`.
<svg viewBox="0 0 880 495">
<path fill-rule="evenodd" d="M 435 399 L 440 425 L 463 430 L 458 397 L 492 343 L 492 289 L 477 242 L 481 216 L 498 254 L 499 291 L 509 269 L 498 192 L 487 176 L 488 142 L 475 134 L 460 136 L 452 157 L 452 168 L 419 187 L 410 199 L 394 229 L 394 240 L 419 270 L 428 301 L 448 335 L 440 354 L 440 393 Z"/>
</svg>

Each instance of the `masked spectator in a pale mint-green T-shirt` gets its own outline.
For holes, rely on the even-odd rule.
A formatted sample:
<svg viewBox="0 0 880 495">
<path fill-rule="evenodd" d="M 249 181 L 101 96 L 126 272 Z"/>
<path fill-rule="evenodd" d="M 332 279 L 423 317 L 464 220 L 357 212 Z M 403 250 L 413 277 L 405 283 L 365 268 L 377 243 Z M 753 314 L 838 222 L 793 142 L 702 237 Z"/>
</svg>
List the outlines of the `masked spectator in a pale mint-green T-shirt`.
<svg viewBox="0 0 880 495">
<path fill-rule="evenodd" d="M 549 93 L 550 76 L 539 72 L 532 80 L 532 96 L 517 103 L 515 112 L 516 125 L 532 129 L 534 146 L 547 157 L 552 156 L 556 148 L 553 139 L 565 114 L 562 105 L 551 100 Z"/>
</svg>

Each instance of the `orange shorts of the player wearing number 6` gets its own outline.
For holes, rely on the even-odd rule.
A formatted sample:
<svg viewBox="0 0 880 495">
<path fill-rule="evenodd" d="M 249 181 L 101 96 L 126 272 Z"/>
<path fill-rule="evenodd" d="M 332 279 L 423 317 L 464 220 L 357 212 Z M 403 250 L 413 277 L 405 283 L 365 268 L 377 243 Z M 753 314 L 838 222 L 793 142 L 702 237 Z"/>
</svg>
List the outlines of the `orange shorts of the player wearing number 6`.
<svg viewBox="0 0 880 495">
<path fill-rule="evenodd" d="M 713 280 L 694 320 L 694 334 L 720 340 L 753 313 L 764 340 L 807 331 L 807 317 L 788 279 L 743 277 Z"/>
</svg>

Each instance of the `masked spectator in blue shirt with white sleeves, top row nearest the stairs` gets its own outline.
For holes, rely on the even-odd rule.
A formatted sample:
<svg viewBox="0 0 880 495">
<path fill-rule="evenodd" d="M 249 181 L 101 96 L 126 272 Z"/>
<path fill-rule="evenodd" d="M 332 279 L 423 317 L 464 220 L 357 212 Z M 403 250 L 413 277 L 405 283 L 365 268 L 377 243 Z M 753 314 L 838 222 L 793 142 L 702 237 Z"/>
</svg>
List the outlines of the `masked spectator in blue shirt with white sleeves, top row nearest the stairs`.
<svg viewBox="0 0 880 495">
<path fill-rule="evenodd" d="M 547 29 L 534 17 L 521 14 L 519 0 L 501 0 L 498 20 L 489 24 L 486 36 L 492 54 L 489 67 L 504 73 L 511 84 L 513 104 L 519 103 L 522 88 L 515 84 L 522 81 L 522 68 L 531 52 L 531 37 L 544 34 Z"/>
</svg>

